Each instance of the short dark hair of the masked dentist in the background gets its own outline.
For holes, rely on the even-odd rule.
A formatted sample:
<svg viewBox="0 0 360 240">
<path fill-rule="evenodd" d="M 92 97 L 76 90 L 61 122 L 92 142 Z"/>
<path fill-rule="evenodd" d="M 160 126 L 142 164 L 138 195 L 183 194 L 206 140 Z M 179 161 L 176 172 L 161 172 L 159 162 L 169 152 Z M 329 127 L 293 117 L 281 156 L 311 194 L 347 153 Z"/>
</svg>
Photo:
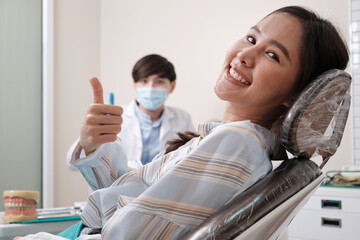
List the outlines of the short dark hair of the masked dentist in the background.
<svg viewBox="0 0 360 240">
<path fill-rule="evenodd" d="M 170 82 L 175 81 L 176 79 L 174 65 L 166 58 L 157 54 L 150 54 L 141 58 L 135 63 L 132 71 L 134 82 L 153 74 L 158 74 L 160 77 L 167 78 Z"/>
</svg>

